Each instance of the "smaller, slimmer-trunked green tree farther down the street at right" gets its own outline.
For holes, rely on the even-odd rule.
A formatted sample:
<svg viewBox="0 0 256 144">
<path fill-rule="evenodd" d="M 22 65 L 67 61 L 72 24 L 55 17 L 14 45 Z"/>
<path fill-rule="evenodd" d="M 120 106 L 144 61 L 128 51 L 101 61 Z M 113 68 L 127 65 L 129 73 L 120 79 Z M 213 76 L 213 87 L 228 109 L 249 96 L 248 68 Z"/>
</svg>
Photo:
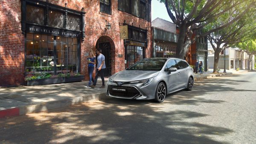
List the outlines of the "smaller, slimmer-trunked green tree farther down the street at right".
<svg viewBox="0 0 256 144">
<path fill-rule="evenodd" d="M 241 11 L 241 8 L 236 8 L 236 11 L 239 10 Z M 239 20 L 231 23 L 229 26 L 226 26 L 225 29 L 219 29 L 207 35 L 207 39 L 215 51 L 213 72 L 218 71 L 218 61 L 221 51 L 230 46 L 236 45 L 237 43 L 246 41 L 252 38 L 253 35 L 256 35 L 255 10 L 255 8 L 249 9 L 247 13 L 244 14 L 244 17 L 241 17 Z M 208 24 L 204 30 L 209 31 L 215 27 L 223 25 L 224 23 L 229 23 L 233 20 L 233 17 L 236 17 L 236 14 L 234 14 L 233 10 L 231 9 L 218 17 L 214 22 Z M 216 43 L 216 45 L 214 45 L 213 42 Z"/>
</svg>

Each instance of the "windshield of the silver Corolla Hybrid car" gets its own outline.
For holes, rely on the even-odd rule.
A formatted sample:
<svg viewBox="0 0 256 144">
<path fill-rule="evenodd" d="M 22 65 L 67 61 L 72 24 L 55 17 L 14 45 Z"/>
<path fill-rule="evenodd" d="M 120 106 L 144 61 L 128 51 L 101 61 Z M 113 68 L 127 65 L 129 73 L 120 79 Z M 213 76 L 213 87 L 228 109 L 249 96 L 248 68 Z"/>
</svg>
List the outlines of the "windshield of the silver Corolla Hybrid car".
<svg viewBox="0 0 256 144">
<path fill-rule="evenodd" d="M 143 59 L 126 70 L 155 70 L 160 71 L 163 68 L 166 59 Z"/>
</svg>

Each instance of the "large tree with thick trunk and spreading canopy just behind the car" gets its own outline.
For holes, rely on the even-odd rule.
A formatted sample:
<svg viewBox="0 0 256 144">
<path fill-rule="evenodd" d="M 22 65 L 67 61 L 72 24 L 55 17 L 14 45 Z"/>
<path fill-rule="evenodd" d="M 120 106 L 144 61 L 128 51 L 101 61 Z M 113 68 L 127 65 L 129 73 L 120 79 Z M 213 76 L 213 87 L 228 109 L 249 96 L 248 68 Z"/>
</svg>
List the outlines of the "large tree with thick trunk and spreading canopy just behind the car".
<svg viewBox="0 0 256 144">
<path fill-rule="evenodd" d="M 248 10 L 248 7 L 254 6 L 256 0 L 159 0 L 165 3 L 169 17 L 173 23 L 179 28 L 179 36 L 177 40 L 176 57 L 184 58 L 190 45 L 195 42 L 196 37 L 192 39 L 192 35 L 212 23 L 216 18 L 225 14 L 230 9 L 237 6 L 244 7 L 242 11 L 236 11 L 233 20 L 223 23 L 214 29 L 210 29 L 201 37 L 207 36 L 212 32 L 224 29 L 230 24 L 239 20 Z M 231 3 L 232 2 L 232 3 Z M 173 13 L 174 14 L 173 14 Z M 198 37 L 198 36 L 197 36 Z"/>
</svg>

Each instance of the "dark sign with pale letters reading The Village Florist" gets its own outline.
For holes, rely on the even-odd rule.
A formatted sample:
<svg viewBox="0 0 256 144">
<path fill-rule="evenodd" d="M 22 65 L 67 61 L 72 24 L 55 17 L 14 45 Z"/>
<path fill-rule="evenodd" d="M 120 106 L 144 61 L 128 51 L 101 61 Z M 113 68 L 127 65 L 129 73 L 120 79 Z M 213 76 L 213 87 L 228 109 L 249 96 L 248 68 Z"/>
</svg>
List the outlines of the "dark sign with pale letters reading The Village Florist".
<svg viewBox="0 0 256 144">
<path fill-rule="evenodd" d="M 55 36 L 64 36 L 64 37 L 79 37 L 80 32 L 68 31 L 63 29 L 52 29 L 52 28 L 44 28 L 39 26 L 28 26 L 26 27 L 26 32 L 31 33 L 41 33 Z"/>
</svg>

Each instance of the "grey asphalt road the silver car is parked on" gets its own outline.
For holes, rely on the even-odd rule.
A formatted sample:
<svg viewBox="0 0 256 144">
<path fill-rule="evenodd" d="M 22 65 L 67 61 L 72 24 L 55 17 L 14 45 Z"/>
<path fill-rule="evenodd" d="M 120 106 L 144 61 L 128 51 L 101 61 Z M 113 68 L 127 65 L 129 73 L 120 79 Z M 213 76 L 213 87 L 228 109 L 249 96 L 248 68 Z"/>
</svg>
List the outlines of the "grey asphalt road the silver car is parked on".
<svg viewBox="0 0 256 144">
<path fill-rule="evenodd" d="M 101 96 L 0 119 L 0 143 L 256 144 L 256 72 L 197 81 L 160 104 Z"/>
</svg>

